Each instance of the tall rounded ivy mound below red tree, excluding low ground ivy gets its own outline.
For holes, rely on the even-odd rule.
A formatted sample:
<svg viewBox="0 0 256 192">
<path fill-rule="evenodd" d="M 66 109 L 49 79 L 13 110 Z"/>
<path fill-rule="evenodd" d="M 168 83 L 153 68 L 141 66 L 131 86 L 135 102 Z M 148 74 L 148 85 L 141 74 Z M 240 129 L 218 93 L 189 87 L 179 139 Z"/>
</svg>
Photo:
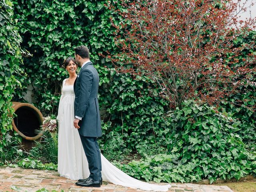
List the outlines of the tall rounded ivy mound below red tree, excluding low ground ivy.
<svg viewBox="0 0 256 192">
<path fill-rule="evenodd" d="M 168 148 L 180 153 L 182 163 L 198 162 L 194 170 L 198 178 L 209 178 L 212 182 L 218 177 L 239 179 L 255 172 L 255 159 L 236 133 L 240 122 L 230 114 L 225 116 L 214 107 L 188 101 L 182 110 L 171 113 L 170 118 L 170 126 L 176 128 L 177 134 Z"/>
</svg>

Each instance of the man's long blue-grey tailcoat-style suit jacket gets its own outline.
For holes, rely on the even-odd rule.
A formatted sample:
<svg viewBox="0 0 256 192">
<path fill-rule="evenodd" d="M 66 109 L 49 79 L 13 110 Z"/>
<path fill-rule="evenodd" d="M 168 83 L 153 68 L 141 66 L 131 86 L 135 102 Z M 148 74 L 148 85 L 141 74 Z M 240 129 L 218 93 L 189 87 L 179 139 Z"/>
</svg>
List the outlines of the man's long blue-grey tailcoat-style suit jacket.
<svg viewBox="0 0 256 192">
<path fill-rule="evenodd" d="M 86 63 L 74 82 L 74 114 L 82 117 L 78 132 L 86 137 L 102 136 L 100 108 L 98 103 L 99 74 L 92 65 Z"/>
</svg>

